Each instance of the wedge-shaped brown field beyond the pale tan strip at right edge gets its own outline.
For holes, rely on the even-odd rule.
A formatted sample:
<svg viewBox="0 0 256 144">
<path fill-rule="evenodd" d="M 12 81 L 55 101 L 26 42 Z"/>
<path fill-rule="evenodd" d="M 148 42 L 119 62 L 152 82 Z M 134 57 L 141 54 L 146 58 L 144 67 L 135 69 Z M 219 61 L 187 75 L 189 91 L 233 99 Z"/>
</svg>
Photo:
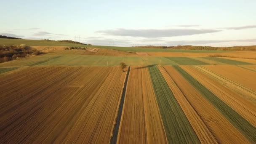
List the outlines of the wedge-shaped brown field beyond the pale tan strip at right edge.
<svg viewBox="0 0 256 144">
<path fill-rule="evenodd" d="M 243 69 L 241 67 L 236 67 L 234 65 L 205 65 L 203 67 L 256 92 L 255 72 L 252 72 L 248 69 Z"/>
</svg>

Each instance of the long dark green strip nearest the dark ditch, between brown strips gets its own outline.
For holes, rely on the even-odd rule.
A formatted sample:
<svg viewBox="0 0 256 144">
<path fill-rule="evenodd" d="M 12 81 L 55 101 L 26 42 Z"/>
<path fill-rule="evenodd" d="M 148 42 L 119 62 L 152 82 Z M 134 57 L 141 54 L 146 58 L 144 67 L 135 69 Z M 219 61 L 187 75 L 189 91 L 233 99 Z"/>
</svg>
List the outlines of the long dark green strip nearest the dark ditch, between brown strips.
<svg viewBox="0 0 256 144">
<path fill-rule="evenodd" d="M 159 69 L 148 69 L 169 143 L 200 143 Z"/>
</svg>

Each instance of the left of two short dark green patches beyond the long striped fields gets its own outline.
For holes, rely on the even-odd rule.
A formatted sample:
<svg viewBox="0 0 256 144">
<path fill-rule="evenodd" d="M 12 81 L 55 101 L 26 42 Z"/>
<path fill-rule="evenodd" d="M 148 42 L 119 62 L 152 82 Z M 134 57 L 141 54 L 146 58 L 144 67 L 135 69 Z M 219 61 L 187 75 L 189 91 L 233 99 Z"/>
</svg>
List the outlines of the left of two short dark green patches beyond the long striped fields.
<svg viewBox="0 0 256 144">
<path fill-rule="evenodd" d="M 168 56 L 165 58 L 175 61 L 176 63 L 178 63 L 180 65 L 204 65 L 204 64 L 207 64 L 203 61 L 198 61 L 196 59 L 190 59 L 188 57 Z"/>
</svg>

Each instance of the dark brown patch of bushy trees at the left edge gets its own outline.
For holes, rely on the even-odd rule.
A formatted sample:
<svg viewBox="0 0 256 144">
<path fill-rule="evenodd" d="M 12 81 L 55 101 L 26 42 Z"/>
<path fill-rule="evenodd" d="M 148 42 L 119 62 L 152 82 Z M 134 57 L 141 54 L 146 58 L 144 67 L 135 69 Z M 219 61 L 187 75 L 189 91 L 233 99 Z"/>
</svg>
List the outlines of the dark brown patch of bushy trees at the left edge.
<svg viewBox="0 0 256 144">
<path fill-rule="evenodd" d="M 38 51 L 34 48 L 29 48 L 25 44 L 21 45 L 0 45 L 0 63 L 11 61 L 15 59 L 21 59 L 31 55 L 42 54 L 41 51 Z"/>
</svg>

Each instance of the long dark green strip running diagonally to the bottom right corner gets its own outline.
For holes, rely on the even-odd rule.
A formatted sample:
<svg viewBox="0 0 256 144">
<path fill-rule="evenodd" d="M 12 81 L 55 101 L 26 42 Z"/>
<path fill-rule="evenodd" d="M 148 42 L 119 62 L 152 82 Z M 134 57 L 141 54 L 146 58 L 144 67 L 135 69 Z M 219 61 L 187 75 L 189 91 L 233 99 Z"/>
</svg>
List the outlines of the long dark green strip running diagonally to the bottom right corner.
<svg viewBox="0 0 256 144">
<path fill-rule="evenodd" d="M 235 110 L 229 107 L 226 103 L 221 101 L 219 97 L 215 96 L 211 91 L 205 88 L 201 83 L 199 83 L 195 78 L 189 75 L 184 69 L 179 66 L 173 66 L 194 88 L 199 91 L 202 96 L 208 99 L 213 106 L 215 106 L 224 115 L 227 120 L 229 120 L 232 125 L 237 128 L 243 135 L 252 143 L 256 142 L 256 128 L 251 125 L 247 120 L 245 120 L 241 115 L 239 115 Z"/>
</svg>

